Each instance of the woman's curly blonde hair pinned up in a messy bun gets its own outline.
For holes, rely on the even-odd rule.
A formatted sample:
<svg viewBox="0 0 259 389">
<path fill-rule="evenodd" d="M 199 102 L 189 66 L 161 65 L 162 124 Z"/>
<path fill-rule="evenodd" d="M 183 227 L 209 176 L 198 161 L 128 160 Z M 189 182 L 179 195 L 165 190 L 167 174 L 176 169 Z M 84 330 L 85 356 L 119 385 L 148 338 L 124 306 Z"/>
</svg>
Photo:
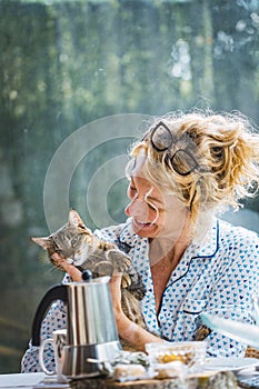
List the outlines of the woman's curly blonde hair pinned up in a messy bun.
<svg viewBox="0 0 259 389">
<path fill-rule="evenodd" d="M 173 139 L 162 151 L 152 143 L 153 129 L 160 124 Z M 186 162 L 182 156 L 178 158 L 178 150 L 193 162 L 188 173 L 179 173 Z M 216 212 L 226 206 L 238 209 L 242 198 L 258 190 L 259 134 L 239 112 L 192 111 L 156 118 L 131 150 L 133 158 L 143 153 L 143 174 L 188 206 L 193 222 L 202 212 Z"/>
</svg>

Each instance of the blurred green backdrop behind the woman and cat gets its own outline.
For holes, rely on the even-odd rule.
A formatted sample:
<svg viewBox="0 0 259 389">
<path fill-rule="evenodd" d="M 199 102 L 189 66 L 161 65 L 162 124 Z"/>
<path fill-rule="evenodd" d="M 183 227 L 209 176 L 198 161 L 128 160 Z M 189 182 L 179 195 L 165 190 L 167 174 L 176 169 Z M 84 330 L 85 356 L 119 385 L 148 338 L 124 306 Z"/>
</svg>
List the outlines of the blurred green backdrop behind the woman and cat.
<svg viewBox="0 0 259 389">
<path fill-rule="evenodd" d="M 0 0 L 0 372 L 20 370 L 36 307 L 61 280 L 30 242 L 49 233 L 43 186 L 60 144 L 121 113 L 211 107 L 259 123 L 258 31 L 258 0 Z M 74 172 L 71 206 L 91 228 L 82 193 L 131 140 L 102 142 Z M 107 193 L 116 222 L 126 186 Z M 257 229 L 258 201 L 246 208 L 242 222 Z"/>
</svg>

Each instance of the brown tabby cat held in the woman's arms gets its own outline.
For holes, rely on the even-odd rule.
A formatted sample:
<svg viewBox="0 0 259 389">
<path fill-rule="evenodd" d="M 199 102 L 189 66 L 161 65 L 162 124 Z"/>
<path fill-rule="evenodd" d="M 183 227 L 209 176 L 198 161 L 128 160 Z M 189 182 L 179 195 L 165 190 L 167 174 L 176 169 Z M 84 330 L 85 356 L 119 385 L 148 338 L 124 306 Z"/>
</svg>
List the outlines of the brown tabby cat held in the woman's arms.
<svg viewBox="0 0 259 389">
<path fill-rule="evenodd" d="M 146 289 L 130 258 L 114 243 L 94 237 L 77 211 L 70 210 L 68 222 L 49 237 L 31 239 L 47 250 L 50 261 L 61 270 L 63 269 L 52 258 L 54 252 L 80 270 L 89 269 L 93 277 L 122 272 L 122 310 L 131 321 L 146 328 L 140 309 L 140 300 L 145 297 Z M 126 342 L 121 343 L 123 349 L 132 349 Z"/>
</svg>

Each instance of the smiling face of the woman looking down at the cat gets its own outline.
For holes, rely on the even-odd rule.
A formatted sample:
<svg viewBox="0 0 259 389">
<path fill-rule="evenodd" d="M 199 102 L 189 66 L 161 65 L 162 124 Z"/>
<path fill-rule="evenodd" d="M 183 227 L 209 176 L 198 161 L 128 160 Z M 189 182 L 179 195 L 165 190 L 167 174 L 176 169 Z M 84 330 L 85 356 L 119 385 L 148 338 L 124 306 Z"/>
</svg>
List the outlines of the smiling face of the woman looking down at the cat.
<svg viewBox="0 0 259 389">
<path fill-rule="evenodd" d="M 137 161 L 128 187 L 131 200 L 126 215 L 132 218 L 136 233 L 145 238 L 177 241 L 188 219 L 188 208 L 175 196 L 163 194 L 141 174 L 143 162 Z"/>
</svg>

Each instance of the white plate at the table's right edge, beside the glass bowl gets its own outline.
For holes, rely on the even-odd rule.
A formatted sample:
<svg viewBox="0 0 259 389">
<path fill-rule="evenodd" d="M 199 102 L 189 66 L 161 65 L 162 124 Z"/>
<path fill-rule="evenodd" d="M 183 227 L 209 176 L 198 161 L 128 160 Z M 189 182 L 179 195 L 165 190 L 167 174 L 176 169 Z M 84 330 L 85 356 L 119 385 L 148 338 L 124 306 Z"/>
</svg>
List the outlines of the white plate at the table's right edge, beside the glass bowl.
<svg viewBox="0 0 259 389">
<path fill-rule="evenodd" d="M 256 366 L 259 366 L 257 358 L 218 357 L 206 358 L 203 368 L 206 370 L 239 371 Z"/>
</svg>

